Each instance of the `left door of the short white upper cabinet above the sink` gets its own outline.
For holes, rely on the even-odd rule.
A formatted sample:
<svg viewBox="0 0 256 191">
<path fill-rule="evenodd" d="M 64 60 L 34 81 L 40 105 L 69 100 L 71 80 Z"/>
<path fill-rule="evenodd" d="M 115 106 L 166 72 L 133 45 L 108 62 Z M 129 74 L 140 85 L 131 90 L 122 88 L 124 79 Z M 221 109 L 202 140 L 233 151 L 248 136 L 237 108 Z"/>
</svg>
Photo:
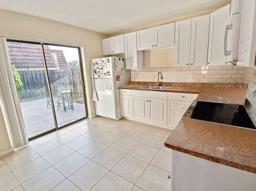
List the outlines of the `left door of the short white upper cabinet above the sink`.
<svg viewBox="0 0 256 191">
<path fill-rule="evenodd" d="M 137 49 L 138 51 L 154 48 L 154 29 L 144 29 L 137 31 Z"/>
</svg>

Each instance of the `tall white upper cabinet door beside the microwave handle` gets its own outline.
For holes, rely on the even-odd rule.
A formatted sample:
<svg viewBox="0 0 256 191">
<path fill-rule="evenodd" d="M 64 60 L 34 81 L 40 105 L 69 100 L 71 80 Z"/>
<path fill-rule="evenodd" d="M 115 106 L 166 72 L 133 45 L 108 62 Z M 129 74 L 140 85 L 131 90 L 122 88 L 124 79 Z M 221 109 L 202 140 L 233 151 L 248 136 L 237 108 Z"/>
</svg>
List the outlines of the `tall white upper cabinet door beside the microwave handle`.
<svg viewBox="0 0 256 191">
<path fill-rule="evenodd" d="M 208 64 L 223 65 L 231 60 L 231 55 L 224 55 L 224 36 L 226 25 L 230 24 L 230 4 L 210 13 Z M 229 31 L 231 32 L 231 31 Z M 231 34 L 228 34 L 231 42 Z M 231 47 L 230 45 L 227 45 Z"/>
</svg>

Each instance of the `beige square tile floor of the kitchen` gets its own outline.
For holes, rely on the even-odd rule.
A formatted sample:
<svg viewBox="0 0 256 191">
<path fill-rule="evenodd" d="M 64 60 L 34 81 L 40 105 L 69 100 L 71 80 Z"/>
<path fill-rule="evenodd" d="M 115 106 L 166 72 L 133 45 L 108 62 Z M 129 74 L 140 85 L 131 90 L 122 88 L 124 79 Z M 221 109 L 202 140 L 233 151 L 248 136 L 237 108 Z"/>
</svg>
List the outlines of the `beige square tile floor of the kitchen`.
<svg viewBox="0 0 256 191">
<path fill-rule="evenodd" d="M 0 191 L 170 191 L 171 130 L 85 119 L 0 158 Z"/>
</svg>

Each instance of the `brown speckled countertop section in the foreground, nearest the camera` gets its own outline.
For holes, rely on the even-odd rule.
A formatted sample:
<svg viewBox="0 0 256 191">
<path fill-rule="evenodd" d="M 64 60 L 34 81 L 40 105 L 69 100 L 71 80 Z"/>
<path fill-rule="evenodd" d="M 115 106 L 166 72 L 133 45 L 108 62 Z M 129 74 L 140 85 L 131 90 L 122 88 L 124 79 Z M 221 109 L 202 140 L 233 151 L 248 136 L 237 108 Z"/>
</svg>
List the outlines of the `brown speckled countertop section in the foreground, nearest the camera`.
<svg viewBox="0 0 256 191">
<path fill-rule="evenodd" d="M 164 146 L 256 173 L 256 130 L 183 117 Z"/>
</svg>

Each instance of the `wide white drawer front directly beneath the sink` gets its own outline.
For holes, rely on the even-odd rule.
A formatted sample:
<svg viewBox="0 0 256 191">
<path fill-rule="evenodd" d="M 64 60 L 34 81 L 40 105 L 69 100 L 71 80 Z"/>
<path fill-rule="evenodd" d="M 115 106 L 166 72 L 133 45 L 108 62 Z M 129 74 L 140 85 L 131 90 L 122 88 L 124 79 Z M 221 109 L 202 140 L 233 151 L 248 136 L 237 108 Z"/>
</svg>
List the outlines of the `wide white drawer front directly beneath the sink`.
<svg viewBox="0 0 256 191">
<path fill-rule="evenodd" d="M 156 99 L 167 99 L 167 92 L 157 92 L 157 91 L 146 91 L 146 90 L 132 90 L 132 96 L 137 97 L 148 97 Z"/>
</svg>

